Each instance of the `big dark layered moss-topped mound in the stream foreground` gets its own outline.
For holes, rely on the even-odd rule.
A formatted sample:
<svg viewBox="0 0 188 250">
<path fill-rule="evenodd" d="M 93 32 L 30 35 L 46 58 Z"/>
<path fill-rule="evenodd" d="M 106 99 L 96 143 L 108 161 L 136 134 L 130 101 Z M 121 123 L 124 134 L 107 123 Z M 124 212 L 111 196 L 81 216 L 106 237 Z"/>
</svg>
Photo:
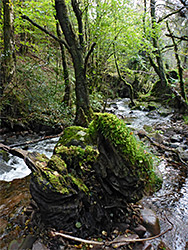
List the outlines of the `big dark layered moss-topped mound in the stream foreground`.
<svg viewBox="0 0 188 250">
<path fill-rule="evenodd" d="M 96 114 L 89 128 L 66 128 L 51 159 L 37 155 L 32 163 L 42 221 L 81 237 L 126 225 L 127 203 L 158 180 L 150 154 L 111 114 Z"/>
</svg>

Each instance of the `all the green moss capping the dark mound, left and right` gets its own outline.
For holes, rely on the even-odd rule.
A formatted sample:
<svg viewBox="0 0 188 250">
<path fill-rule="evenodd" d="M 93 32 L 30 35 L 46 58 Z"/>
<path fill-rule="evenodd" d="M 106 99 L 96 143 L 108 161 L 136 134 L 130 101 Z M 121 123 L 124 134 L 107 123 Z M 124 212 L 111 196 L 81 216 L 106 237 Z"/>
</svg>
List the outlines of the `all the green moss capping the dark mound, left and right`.
<svg viewBox="0 0 188 250">
<path fill-rule="evenodd" d="M 115 147 L 125 165 L 132 168 L 132 173 L 139 176 L 141 182 L 148 183 L 153 189 L 155 184 L 160 185 L 161 181 L 153 171 L 152 156 L 126 124 L 115 115 L 96 114 L 88 129 L 79 126 L 66 128 L 50 160 L 38 157 L 40 171 L 35 178 L 43 190 L 50 189 L 61 194 L 83 191 L 88 194 L 89 184 L 85 184 L 85 179 L 97 162 L 99 152 L 96 142 L 100 135 Z M 75 140 L 79 142 L 78 146 L 71 145 Z M 95 145 L 91 145 L 91 141 Z M 127 168 L 122 166 L 123 176 L 127 175 L 126 171 Z"/>
</svg>

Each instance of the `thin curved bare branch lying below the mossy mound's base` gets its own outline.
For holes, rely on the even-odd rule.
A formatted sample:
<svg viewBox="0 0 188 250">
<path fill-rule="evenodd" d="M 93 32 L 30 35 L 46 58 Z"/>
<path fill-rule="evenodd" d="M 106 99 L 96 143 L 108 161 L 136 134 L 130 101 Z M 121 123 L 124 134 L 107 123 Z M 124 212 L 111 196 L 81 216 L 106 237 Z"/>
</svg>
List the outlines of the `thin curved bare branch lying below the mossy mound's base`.
<svg viewBox="0 0 188 250">
<path fill-rule="evenodd" d="M 66 239 L 69 239 L 69 240 L 74 240 L 74 241 L 78 241 L 78 242 L 81 242 L 81 243 L 86 243 L 86 244 L 91 244 L 91 245 L 100 245 L 100 246 L 111 246 L 111 245 L 114 245 L 114 244 L 117 244 L 117 243 L 131 243 L 131 242 L 143 242 L 143 241 L 149 241 L 149 240 L 154 240 L 156 238 L 159 238 L 161 237 L 162 235 L 166 234 L 167 232 L 171 231 L 173 229 L 173 224 L 170 222 L 170 220 L 166 217 L 165 215 L 165 218 L 166 220 L 171 224 L 171 227 L 168 228 L 167 230 L 165 230 L 164 232 L 158 234 L 158 235 L 155 235 L 155 236 L 152 236 L 152 237 L 149 237 L 149 238 L 142 238 L 142 239 L 124 239 L 122 241 L 116 241 L 116 240 L 113 240 L 113 241 L 105 241 L 105 242 L 99 242 L 99 241 L 94 241 L 94 240 L 85 240 L 85 239 L 82 239 L 82 238 L 79 238 L 79 237 L 74 237 L 72 235 L 68 235 L 68 234 L 64 234 L 64 233 L 59 233 L 59 232 L 54 232 L 54 231 L 50 231 L 50 236 L 52 237 L 55 237 L 55 236 L 61 236 L 63 238 L 66 238 Z"/>
</svg>

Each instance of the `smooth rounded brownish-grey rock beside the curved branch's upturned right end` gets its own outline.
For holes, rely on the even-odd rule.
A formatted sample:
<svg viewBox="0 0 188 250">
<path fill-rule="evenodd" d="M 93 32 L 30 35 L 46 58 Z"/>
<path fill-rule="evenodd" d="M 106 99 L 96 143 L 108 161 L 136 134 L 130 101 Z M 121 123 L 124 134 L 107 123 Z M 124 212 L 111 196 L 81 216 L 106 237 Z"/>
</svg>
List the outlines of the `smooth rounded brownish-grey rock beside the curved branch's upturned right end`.
<svg viewBox="0 0 188 250">
<path fill-rule="evenodd" d="M 157 215 L 149 208 L 141 209 L 143 225 L 151 233 L 152 236 L 160 233 L 159 219 Z"/>
</svg>

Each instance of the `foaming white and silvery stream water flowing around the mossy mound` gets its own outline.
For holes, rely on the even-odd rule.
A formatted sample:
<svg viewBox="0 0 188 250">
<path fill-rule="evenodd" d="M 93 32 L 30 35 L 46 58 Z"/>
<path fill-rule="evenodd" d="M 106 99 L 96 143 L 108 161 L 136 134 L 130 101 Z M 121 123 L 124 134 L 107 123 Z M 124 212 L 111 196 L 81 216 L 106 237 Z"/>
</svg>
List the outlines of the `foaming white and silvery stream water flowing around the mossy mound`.
<svg viewBox="0 0 188 250">
<path fill-rule="evenodd" d="M 131 110 L 128 104 L 129 99 L 118 99 L 109 102 L 106 111 L 114 113 L 123 119 L 127 126 L 135 131 L 135 134 L 140 130 L 145 130 L 147 133 L 148 131 L 153 132 L 153 136 L 156 140 L 159 142 L 160 140 L 164 140 L 166 142 L 167 137 L 165 137 L 165 133 L 167 133 L 168 138 L 171 138 L 171 144 L 168 144 L 168 146 L 177 148 L 181 151 L 181 157 L 184 161 L 188 161 L 188 134 L 182 136 L 181 134 L 175 134 L 171 131 L 172 126 L 177 126 L 181 130 L 181 123 L 176 123 L 171 120 L 173 110 L 165 109 L 162 106 L 155 108 L 154 105 L 150 105 L 150 107 L 143 106 L 140 107 L 139 110 Z M 164 131 L 162 130 L 164 130 L 165 133 L 163 133 Z M 0 140 L 2 140 L 2 138 L 0 138 Z M 6 144 L 21 143 L 24 140 L 31 140 L 31 138 L 20 135 L 18 138 L 9 138 Z M 57 140 L 58 138 L 53 138 L 40 141 L 36 144 L 30 144 L 27 150 L 44 153 L 47 157 L 50 157 Z M 147 143 L 148 142 L 146 142 L 146 144 Z M 153 149 L 151 149 L 151 152 L 152 151 Z M 163 178 L 162 188 L 154 195 L 144 197 L 141 203 L 144 207 L 151 208 L 156 212 L 160 221 L 161 232 L 170 227 L 165 216 L 173 224 L 172 231 L 152 241 L 154 249 L 157 249 L 157 245 L 162 240 L 171 250 L 186 250 L 188 249 L 187 169 L 169 164 L 166 161 L 166 157 L 168 157 L 168 154 L 165 156 L 159 155 L 160 161 L 157 163 L 158 171 Z M 30 170 L 24 161 L 17 157 L 0 155 L 0 165 L 0 180 L 12 181 L 30 174 Z"/>
</svg>

